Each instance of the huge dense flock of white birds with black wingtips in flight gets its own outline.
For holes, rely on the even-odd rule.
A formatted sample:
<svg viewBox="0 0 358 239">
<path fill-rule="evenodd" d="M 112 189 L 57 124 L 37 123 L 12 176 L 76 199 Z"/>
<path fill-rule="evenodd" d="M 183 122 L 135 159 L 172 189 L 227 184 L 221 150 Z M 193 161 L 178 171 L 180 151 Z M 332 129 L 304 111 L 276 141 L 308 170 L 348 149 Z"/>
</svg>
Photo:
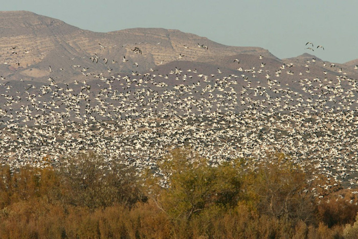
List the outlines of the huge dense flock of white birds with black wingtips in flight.
<svg viewBox="0 0 358 239">
<path fill-rule="evenodd" d="M 142 54 L 138 47 L 132 52 Z M 96 53 L 88 61 L 102 58 Z M 271 160 L 270 153 L 281 152 L 356 187 L 357 79 L 324 62 L 321 67 L 335 77 L 294 73 L 294 63 L 264 71 L 261 55 L 247 69 L 241 59 L 232 60 L 238 69 L 230 75 L 179 67 L 93 74 L 78 66 L 85 79 L 72 83 L 56 83 L 52 66 L 48 83 L 20 82 L 24 91 L 14 91 L 14 81 L 2 77 L 0 162 L 14 170 L 44 167 L 91 150 L 108 163 L 122 160 L 160 175 L 158 160 L 177 147 L 190 147 L 213 166 L 237 158 L 248 164 Z M 305 66 L 318 63 L 307 60 Z"/>
</svg>

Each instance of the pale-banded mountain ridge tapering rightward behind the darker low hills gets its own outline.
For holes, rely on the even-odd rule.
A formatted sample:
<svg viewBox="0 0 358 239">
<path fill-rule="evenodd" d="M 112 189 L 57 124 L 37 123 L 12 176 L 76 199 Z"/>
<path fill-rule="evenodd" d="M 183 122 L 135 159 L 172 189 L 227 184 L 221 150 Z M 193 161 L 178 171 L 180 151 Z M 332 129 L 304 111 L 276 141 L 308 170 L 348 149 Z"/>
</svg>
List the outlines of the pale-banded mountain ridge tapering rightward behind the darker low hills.
<svg viewBox="0 0 358 239">
<path fill-rule="evenodd" d="M 142 54 L 132 51 L 136 47 Z M 262 48 L 225 46 L 178 30 L 136 28 L 97 33 L 28 11 L 0 12 L 0 71 L 8 79 L 40 80 L 50 75 L 49 66 L 53 74 L 73 78 L 81 75 L 79 68 L 105 70 L 104 59 L 110 63 L 107 69 L 128 73 L 176 60 L 212 62 L 218 56 L 240 53 L 276 58 Z M 123 56 L 127 64 L 123 64 Z"/>
</svg>

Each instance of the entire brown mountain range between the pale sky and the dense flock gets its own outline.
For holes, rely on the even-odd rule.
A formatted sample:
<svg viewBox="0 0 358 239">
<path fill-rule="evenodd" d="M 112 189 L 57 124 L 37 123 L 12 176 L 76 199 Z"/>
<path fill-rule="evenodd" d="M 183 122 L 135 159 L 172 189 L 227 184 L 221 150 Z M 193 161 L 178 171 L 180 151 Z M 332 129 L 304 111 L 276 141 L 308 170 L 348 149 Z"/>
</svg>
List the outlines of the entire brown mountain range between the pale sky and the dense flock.
<svg viewBox="0 0 358 239">
<path fill-rule="evenodd" d="M 274 77 L 279 71 L 284 84 L 305 73 L 358 78 L 353 68 L 356 61 L 332 64 L 308 53 L 279 59 L 263 48 L 225 46 L 206 37 L 162 28 L 98 33 L 28 11 L 0 12 L 0 33 L 0 75 L 11 81 L 43 83 L 51 77 L 70 83 L 96 76 L 155 74 L 156 70 L 165 75 L 175 68 L 198 68 L 211 76 L 217 75 L 219 68 L 225 76 L 254 77 L 256 81 Z"/>
</svg>

